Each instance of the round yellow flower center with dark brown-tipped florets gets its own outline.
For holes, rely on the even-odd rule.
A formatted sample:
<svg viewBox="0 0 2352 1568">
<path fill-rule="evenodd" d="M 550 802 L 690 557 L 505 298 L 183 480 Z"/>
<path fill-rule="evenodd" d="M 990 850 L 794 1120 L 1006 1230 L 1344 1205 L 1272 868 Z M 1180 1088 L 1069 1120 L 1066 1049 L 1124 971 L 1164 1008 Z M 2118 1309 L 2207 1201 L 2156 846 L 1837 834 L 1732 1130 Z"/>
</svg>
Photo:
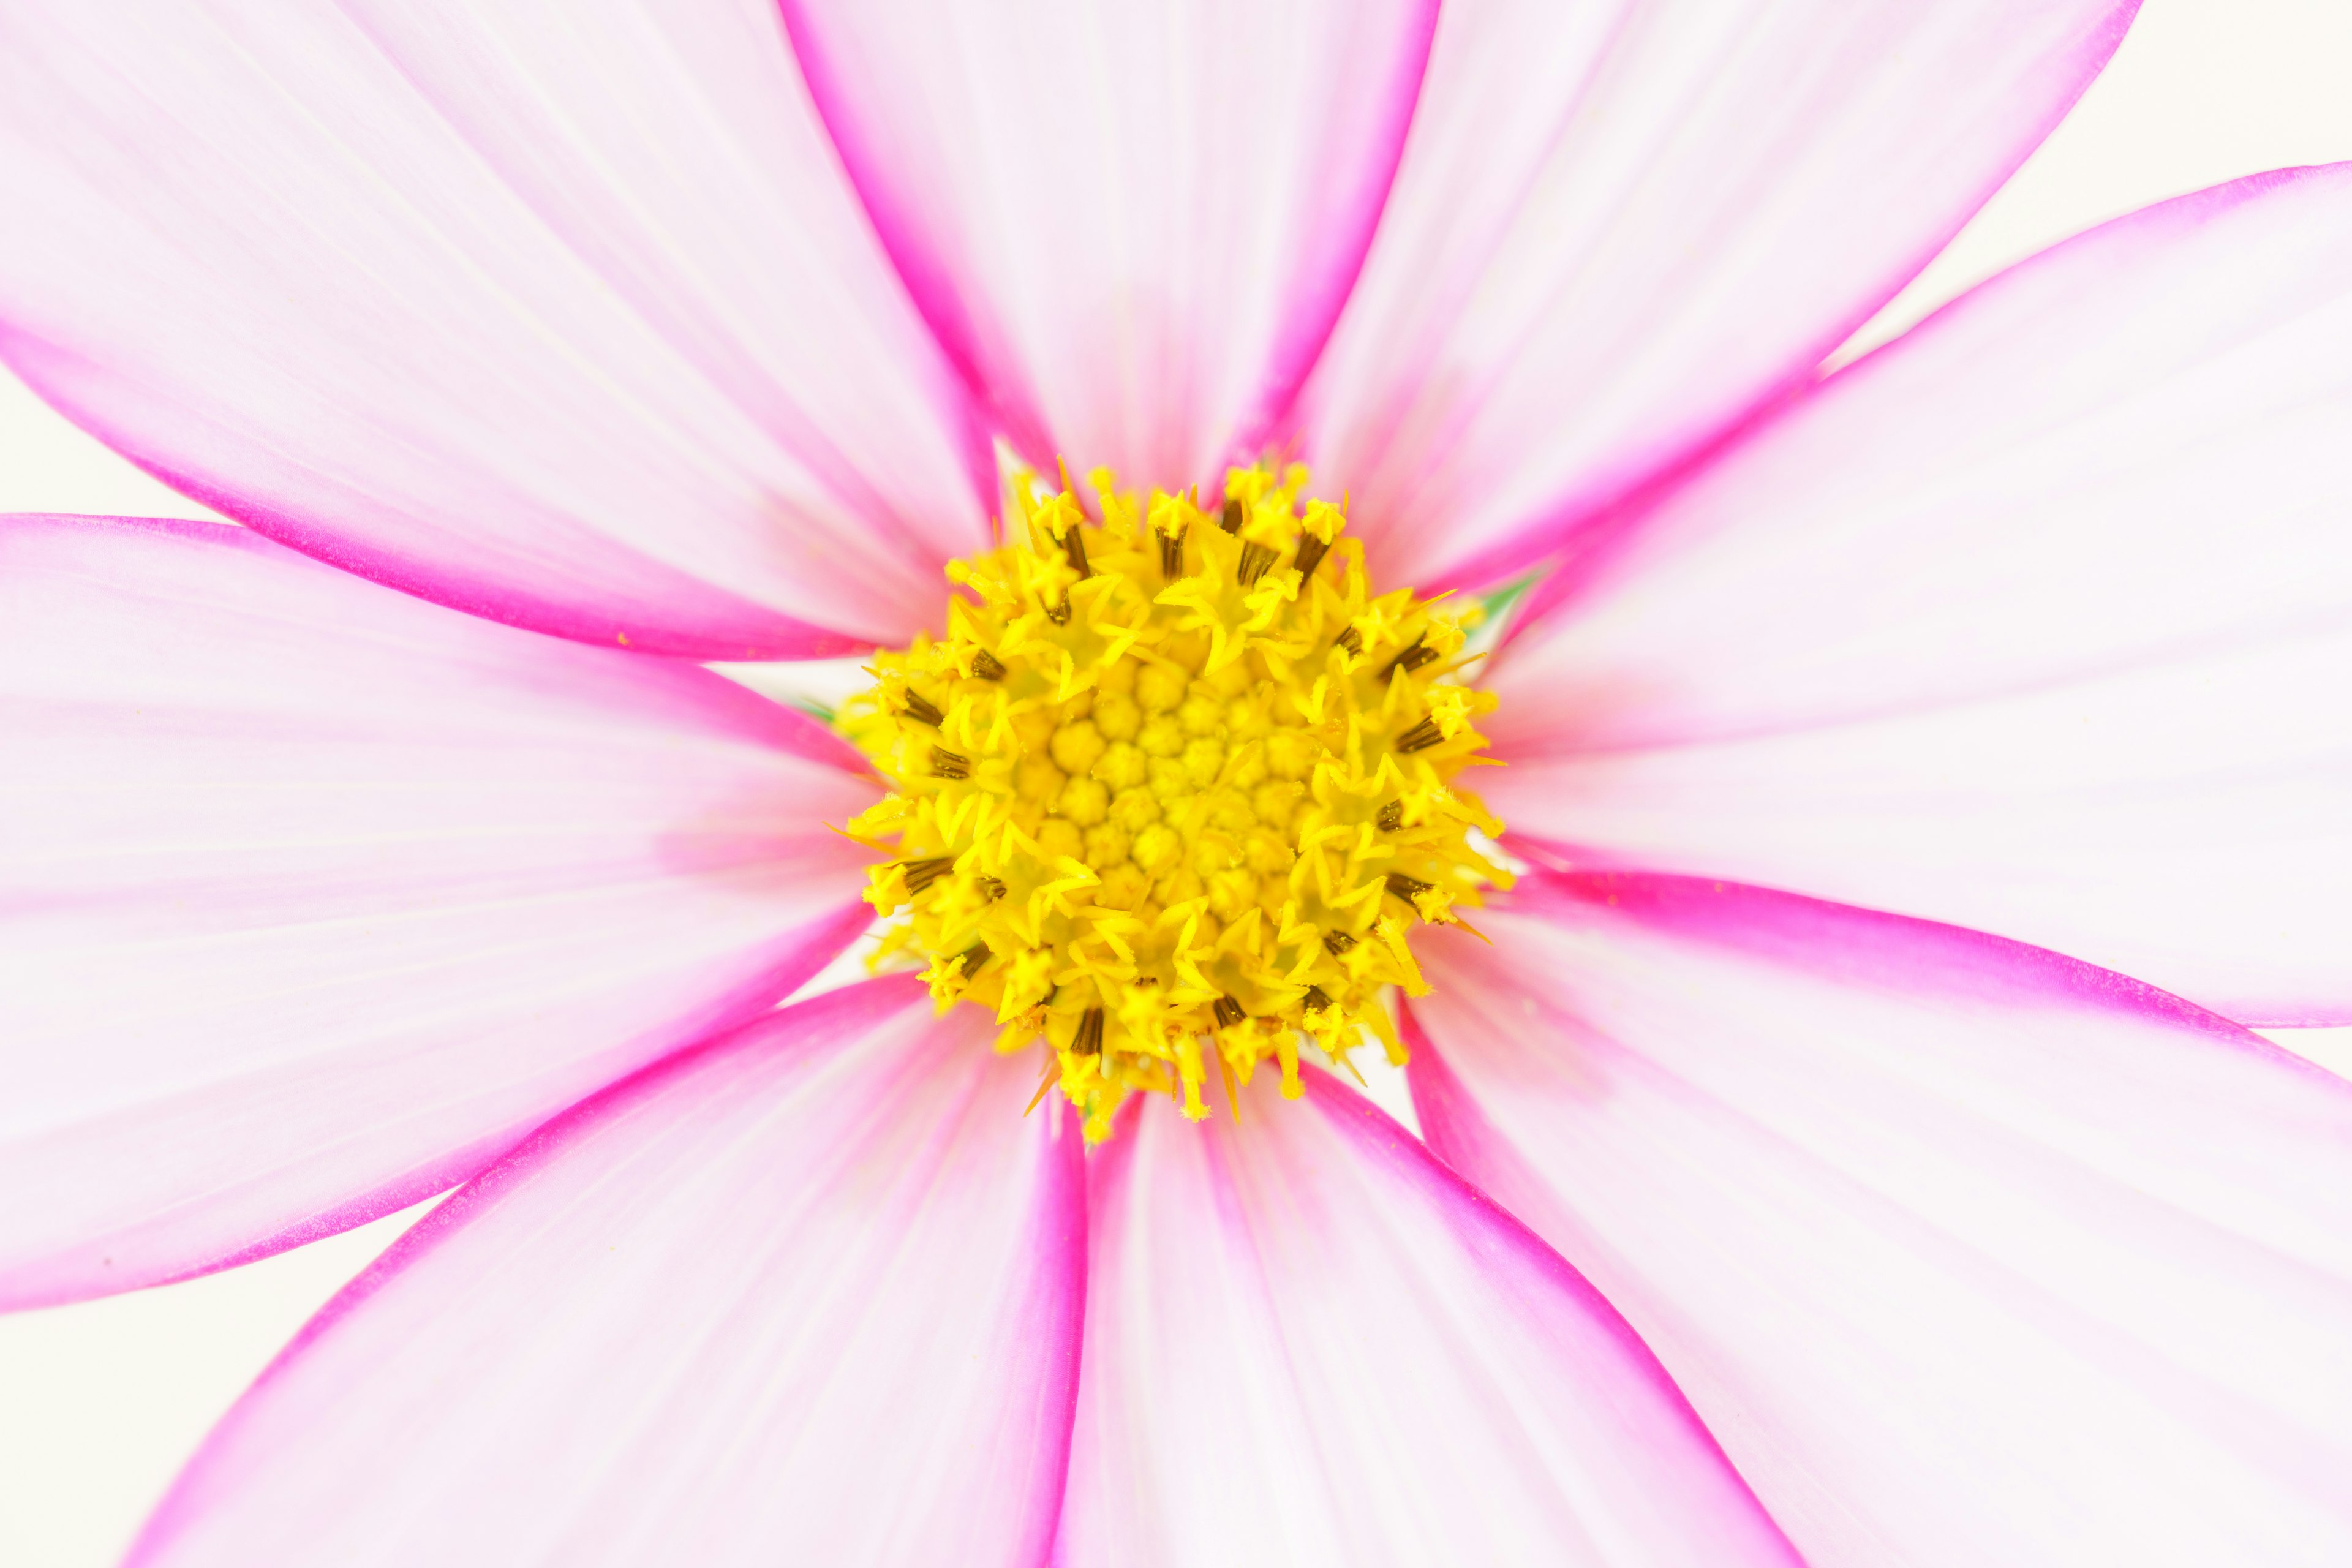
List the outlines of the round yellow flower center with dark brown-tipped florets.
<svg viewBox="0 0 2352 1568">
<path fill-rule="evenodd" d="M 844 733 L 896 785 L 849 835 L 884 846 L 866 898 L 884 957 L 941 1009 L 993 1009 L 1000 1051 L 1051 1046 L 1087 1138 L 1136 1091 L 1204 1117 L 1301 1034 L 1404 1060 L 1383 987 L 1421 994 L 1409 936 L 1508 884 L 1456 773 L 1494 698 L 1449 679 L 1463 630 L 1374 597 L 1345 515 L 1305 470 L 1237 468 L 1225 501 L 1014 480 L 1021 543 L 948 567 L 948 637 L 882 654 Z"/>
</svg>

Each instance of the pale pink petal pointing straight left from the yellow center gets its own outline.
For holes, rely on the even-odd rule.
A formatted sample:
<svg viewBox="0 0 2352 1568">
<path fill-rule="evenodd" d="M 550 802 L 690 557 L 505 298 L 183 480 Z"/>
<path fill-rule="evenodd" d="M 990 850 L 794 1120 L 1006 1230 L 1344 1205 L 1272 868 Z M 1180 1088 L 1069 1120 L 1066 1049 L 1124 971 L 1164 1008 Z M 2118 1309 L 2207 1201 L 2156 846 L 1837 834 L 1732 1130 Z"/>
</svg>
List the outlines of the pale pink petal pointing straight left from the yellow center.
<svg viewBox="0 0 2352 1568">
<path fill-rule="evenodd" d="M 0 733 L 5 1307 L 459 1182 L 870 914 L 814 722 L 245 529 L 0 522 Z"/>
</svg>

